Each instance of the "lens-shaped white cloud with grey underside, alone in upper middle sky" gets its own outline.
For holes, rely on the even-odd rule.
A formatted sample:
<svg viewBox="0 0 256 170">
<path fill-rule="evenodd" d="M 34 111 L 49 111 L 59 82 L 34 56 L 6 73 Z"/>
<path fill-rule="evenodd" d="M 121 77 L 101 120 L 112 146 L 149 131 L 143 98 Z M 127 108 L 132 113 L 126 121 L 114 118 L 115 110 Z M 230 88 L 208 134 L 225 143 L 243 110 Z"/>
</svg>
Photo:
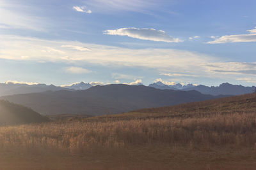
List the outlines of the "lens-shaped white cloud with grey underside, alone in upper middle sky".
<svg viewBox="0 0 256 170">
<path fill-rule="evenodd" d="M 138 28 L 121 28 L 114 30 L 106 30 L 104 34 L 116 36 L 129 36 L 131 38 L 145 39 L 150 41 L 163 41 L 167 43 L 182 42 L 179 38 L 173 38 L 164 31 L 157 31 L 156 29 L 138 29 Z"/>
</svg>

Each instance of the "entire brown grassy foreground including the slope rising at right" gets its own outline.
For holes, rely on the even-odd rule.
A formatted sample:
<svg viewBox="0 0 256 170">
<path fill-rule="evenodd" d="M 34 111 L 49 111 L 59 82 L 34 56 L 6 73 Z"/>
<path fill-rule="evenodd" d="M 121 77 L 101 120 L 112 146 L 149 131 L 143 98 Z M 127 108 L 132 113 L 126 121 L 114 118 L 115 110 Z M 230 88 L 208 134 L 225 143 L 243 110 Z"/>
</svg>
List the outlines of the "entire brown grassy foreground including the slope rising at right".
<svg viewBox="0 0 256 170">
<path fill-rule="evenodd" d="M 0 169 L 256 169 L 256 94 L 2 126 Z"/>
</svg>

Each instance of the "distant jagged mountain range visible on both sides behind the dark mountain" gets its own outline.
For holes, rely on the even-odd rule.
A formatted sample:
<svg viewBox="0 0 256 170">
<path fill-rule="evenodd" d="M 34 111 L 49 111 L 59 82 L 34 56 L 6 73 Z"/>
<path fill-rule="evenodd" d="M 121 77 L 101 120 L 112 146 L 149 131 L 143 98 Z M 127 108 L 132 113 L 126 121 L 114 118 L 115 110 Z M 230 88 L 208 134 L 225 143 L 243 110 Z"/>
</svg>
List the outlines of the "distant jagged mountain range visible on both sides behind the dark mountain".
<svg viewBox="0 0 256 170">
<path fill-rule="evenodd" d="M 36 92 L 45 92 L 45 91 L 58 91 L 58 90 L 87 90 L 99 83 L 84 83 L 81 81 L 80 83 L 73 83 L 71 85 L 45 85 L 45 84 L 33 84 L 29 85 L 26 83 L 0 83 L 0 96 L 10 96 L 13 94 L 29 94 Z M 102 85 L 100 83 L 100 85 Z M 137 85 L 142 85 L 137 84 Z M 149 87 L 154 87 L 156 89 L 162 90 L 196 90 L 201 92 L 202 94 L 211 94 L 212 96 L 218 95 L 230 95 L 237 96 L 241 94 L 250 94 L 255 91 L 255 86 L 252 87 L 244 87 L 242 85 L 232 85 L 230 83 L 222 83 L 220 86 L 205 86 L 205 85 L 182 85 L 181 83 L 176 83 L 174 85 L 166 85 L 161 81 L 157 81 L 156 83 L 152 83 L 148 85 Z"/>
</svg>

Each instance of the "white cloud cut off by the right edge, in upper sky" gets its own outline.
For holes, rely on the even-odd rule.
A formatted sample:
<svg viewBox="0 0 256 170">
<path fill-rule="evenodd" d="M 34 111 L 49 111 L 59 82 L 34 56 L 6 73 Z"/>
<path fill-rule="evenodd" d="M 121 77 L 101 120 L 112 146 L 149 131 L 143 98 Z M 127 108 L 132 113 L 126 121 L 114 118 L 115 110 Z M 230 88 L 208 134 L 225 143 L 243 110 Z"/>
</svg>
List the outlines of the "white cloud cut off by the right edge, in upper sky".
<svg viewBox="0 0 256 170">
<path fill-rule="evenodd" d="M 255 29 L 248 30 L 249 34 L 237 34 L 229 36 L 221 36 L 216 38 L 211 36 L 214 41 L 207 42 L 208 44 L 220 44 L 220 43 L 242 43 L 242 42 L 256 42 L 256 27 Z"/>
</svg>

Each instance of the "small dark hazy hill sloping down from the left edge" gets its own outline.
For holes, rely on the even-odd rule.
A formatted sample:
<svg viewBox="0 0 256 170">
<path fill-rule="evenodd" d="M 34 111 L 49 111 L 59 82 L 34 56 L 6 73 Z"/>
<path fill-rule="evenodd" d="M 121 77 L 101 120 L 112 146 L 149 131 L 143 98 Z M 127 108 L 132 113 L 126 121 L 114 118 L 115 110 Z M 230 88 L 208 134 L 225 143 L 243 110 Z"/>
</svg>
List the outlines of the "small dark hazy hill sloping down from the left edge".
<svg viewBox="0 0 256 170">
<path fill-rule="evenodd" d="M 48 118 L 43 117 L 30 108 L 0 100 L 0 125 L 28 124 L 47 121 L 49 121 Z"/>
</svg>

